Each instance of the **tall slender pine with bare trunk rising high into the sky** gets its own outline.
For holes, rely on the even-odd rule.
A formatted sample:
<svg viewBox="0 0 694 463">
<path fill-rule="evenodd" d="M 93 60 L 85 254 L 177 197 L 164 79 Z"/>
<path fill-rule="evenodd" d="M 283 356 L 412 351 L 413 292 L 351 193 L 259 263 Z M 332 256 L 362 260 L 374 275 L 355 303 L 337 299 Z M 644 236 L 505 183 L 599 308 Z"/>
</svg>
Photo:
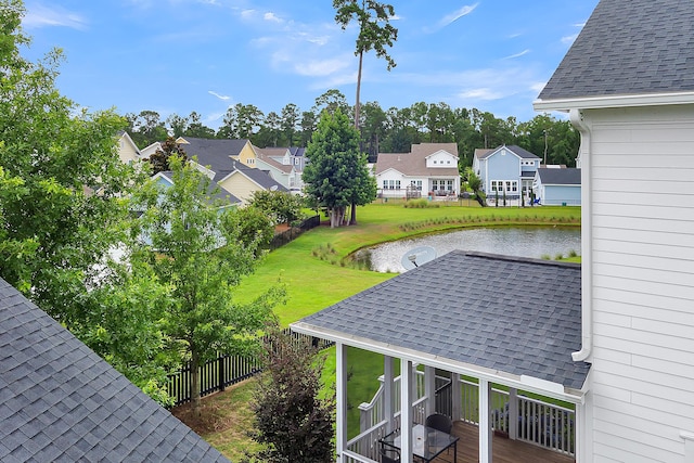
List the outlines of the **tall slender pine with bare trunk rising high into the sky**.
<svg viewBox="0 0 694 463">
<path fill-rule="evenodd" d="M 389 23 L 395 15 L 393 5 L 374 0 L 333 0 L 335 22 L 345 30 L 349 23 L 357 21 L 359 35 L 355 55 L 359 56 L 357 72 L 357 98 L 355 103 L 355 127 L 359 128 L 359 93 L 361 91 L 361 72 L 364 53 L 374 50 L 376 56 L 386 60 L 388 70 L 396 66 L 386 51 L 398 39 L 398 29 Z"/>
</svg>

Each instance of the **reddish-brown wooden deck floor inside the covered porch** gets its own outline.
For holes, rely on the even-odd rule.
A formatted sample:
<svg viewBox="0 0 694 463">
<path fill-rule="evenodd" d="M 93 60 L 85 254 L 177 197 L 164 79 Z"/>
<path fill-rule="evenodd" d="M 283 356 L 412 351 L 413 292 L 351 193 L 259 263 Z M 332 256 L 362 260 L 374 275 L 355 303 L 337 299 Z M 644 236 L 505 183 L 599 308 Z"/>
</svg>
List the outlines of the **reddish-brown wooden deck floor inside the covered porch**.
<svg viewBox="0 0 694 463">
<path fill-rule="evenodd" d="M 458 441 L 458 463 L 478 462 L 478 433 L 477 426 L 463 422 L 453 424 L 453 435 L 460 437 Z M 575 463 L 573 458 L 562 455 L 551 450 L 504 437 L 493 437 L 492 441 L 494 463 Z M 439 455 L 435 463 L 452 463 L 452 450 Z"/>
</svg>

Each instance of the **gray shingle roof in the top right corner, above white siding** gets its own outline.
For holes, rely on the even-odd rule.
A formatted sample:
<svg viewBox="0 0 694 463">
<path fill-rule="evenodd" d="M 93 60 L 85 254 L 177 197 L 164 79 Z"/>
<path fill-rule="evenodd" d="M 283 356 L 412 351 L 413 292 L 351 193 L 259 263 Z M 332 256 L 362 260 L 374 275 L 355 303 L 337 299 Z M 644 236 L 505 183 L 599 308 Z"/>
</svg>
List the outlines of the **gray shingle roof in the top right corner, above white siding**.
<svg viewBox="0 0 694 463">
<path fill-rule="evenodd" d="M 601 0 L 540 100 L 694 90 L 694 3 Z"/>
</svg>

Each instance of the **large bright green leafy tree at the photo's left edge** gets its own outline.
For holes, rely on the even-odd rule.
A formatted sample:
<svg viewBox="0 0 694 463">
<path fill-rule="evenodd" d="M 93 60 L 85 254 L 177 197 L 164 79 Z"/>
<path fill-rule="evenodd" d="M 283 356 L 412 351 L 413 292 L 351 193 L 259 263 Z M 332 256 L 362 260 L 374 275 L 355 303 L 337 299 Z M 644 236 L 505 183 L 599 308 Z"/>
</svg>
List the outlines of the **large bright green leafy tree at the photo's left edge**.
<svg viewBox="0 0 694 463">
<path fill-rule="evenodd" d="M 121 240 L 136 172 L 116 151 L 126 120 L 55 88 L 62 53 L 21 55 L 24 14 L 18 0 L 0 4 L 0 275 L 70 327 L 99 310 L 88 288 Z"/>
</svg>

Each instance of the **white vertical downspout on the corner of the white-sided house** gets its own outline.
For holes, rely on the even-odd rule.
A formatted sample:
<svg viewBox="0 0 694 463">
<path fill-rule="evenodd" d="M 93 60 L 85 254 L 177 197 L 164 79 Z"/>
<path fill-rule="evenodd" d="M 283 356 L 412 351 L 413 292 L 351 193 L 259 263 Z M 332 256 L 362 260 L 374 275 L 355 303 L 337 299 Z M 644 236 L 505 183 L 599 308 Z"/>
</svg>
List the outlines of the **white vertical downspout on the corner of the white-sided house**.
<svg viewBox="0 0 694 463">
<path fill-rule="evenodd" d="M 569 120 L 581 134 L 579 149 L 581 166 L 581 350 L 571 353 L 575 362 L 586 361 L 593 347 L 593 256 L 592 239 L 593 223 L 590 206 L 592 205 L 591 190 L 591 132 L 583 120 L 580 110 L 569 111 Z"/>
</svg>

